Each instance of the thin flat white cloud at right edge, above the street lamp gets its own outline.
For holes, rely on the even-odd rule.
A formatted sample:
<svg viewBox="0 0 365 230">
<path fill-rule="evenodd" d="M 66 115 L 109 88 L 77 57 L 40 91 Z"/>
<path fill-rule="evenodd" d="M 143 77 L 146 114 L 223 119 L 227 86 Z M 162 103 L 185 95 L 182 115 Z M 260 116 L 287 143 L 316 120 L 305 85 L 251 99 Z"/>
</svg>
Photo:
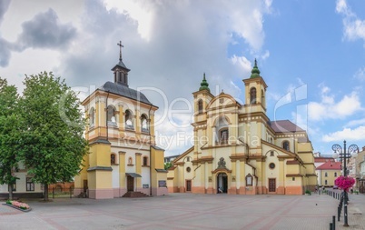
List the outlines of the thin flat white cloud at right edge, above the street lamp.
<svg viewBox="0 0 365 230">
<path fill-rule="evenodd" d="M 324 135 L 322 141 L 334 142 L 334 141 L 365 141 L 365 126 L 359 126 L 357 128 L 344 128 L 341 131 Z"/>
</svg>

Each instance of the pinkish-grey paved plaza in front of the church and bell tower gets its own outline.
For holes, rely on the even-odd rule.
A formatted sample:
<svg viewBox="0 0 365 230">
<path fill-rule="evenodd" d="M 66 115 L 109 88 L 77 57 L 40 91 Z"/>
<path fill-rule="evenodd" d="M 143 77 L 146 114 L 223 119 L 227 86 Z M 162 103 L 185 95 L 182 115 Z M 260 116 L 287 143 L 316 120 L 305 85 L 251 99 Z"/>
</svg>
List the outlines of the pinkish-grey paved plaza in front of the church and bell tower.
<svg viewBox="0 0 365 230">
<path fill-rule="evenodd" d="M 3 204 L 5 202 L 2 202 Z M 196 195 L 26 201 L 23 213 L 0 205 L 0 229 L 329 229 L 339 201 L 330 195 Z M 350 195 L 336 229 L 365 229 L 365 195 Z M 337 218 L 337 217 L 336 217 Z"/>
</svg>

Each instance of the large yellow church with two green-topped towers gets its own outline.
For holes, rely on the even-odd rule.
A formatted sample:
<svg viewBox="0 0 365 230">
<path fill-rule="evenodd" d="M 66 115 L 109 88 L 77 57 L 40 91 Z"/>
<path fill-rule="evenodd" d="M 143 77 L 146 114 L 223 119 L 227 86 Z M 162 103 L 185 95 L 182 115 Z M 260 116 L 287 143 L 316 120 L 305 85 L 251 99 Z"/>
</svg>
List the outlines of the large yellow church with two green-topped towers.
<svg viewBox="0 0 365 230">
<path fill-rule="evenodd" d="M 267 85 L 255 64 L 244 105 L 212 95 L 205 74 L 194 98 L 194 145 L 173 161 L 171 193 L 302 195 L 317 184 L 311 141 L 289 120 L 266 115 Z"/>
</svg>

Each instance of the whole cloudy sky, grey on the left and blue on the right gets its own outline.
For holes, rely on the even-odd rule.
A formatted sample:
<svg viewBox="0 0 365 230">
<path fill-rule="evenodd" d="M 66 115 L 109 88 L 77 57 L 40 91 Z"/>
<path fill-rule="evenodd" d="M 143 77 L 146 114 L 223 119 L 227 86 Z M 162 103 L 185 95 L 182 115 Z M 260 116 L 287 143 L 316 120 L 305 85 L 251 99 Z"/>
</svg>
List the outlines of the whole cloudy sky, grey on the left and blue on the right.
<svg viewBox="0 0 365 230">
<path fill-rule="evenodd" d="M 364 1 L 1 0 L 0 76 L 23 90 L 25 75 L 53 71 L 87 95 L 118 62 L 130 87 L 160 107 L 165 155 L 192 137 L 192 92 L 206 74 L 213 95 L 243 101 L 257 58 L 271 120 L 308 130 L 314 151 L 365 145 Z"/>
</svg>

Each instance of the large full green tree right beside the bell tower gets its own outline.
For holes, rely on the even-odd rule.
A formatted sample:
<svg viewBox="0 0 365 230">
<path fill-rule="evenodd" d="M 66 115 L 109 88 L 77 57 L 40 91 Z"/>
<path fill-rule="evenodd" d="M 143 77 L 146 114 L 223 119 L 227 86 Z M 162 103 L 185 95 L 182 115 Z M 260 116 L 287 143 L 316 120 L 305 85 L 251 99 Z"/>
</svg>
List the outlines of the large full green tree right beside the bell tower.
<svg viewBox="0 0 365 230">
<path fill-rule="evenodd" d="M 60 77 L 40 73 L 25 77 L 21 100 L 26 130 L 22 156 L 33 182 L 48 185 L 73 181 L 87 153 L 80 102 Z"/>
</svg>

